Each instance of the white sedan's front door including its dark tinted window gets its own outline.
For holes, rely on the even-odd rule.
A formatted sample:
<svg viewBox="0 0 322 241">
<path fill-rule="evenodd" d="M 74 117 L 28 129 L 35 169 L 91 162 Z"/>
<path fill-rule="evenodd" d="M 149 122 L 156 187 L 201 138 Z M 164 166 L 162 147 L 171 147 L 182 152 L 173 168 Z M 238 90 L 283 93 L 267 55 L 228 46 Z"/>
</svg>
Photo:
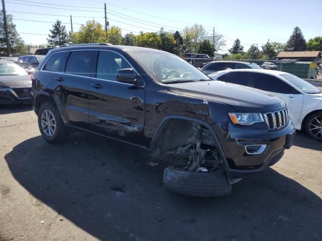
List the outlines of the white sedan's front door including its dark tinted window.
<svg viewBox="0 0 322 241">
<path fill-rule="evenodd" d="M 302 112 L 304 95 L 292 86 L 273 75 L 255 73 L 254 88 L 268 91 L 282 98 L 288 106 L 294 125 L 297 124 Z"/>
</svg>

